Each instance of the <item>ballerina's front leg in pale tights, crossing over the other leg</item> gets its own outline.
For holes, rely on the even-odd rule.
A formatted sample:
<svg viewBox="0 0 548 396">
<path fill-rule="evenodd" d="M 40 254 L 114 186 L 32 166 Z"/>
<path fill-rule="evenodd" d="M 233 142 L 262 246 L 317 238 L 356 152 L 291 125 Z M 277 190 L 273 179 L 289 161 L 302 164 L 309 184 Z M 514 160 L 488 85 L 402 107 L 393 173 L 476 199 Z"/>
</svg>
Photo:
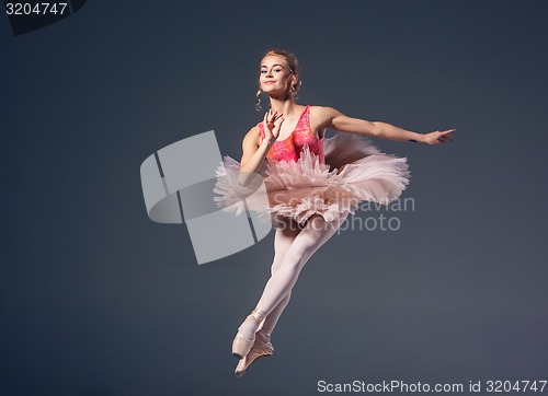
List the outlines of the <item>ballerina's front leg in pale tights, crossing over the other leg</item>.
<svg viewBox="0 0 548 396">
<path fill-rule="evenodd" d="M 345 219 L 346 214 L 331 222 L 327 222 L 318 214 L 310 218 L 285 253 L 279 268 L 266 282 L 256 310 L 264 315 L 274 311 L 297 282 L 300 270 L 308 259 L 336 232 Z M 246 321 L 240 326 L 239 331 L 243 337 L 252 339 L 256 328 L 256 322 Z"/>
</svg>

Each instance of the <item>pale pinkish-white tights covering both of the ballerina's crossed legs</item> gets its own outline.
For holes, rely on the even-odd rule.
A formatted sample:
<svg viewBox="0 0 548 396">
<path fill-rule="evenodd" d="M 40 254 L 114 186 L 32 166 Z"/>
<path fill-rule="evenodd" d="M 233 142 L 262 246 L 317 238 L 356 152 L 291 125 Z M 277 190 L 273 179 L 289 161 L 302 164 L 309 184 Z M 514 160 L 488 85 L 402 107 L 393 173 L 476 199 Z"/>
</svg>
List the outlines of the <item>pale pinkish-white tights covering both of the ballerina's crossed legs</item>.
<svg viewBox="0 0 548 396">
<path fill-rule="evenodd" d="M 255 307 L 264 312 L 266 317 L 261 326 L 256 322 L 243 322 L 239 331 L 244 338 L 253 339 L 259 327 L 270 335 L 289 303 L 292 289 L 300 270 L 316 251 L 339 230 L 346 217 L 347 213 L 344 213 L 338 220 L 327 222 L 321 216 L 315 214 L 302 229 L 290 220 L 279 219 L 281 226 L 276 229 L 274 237 L 272 275 Z"/>
</svg>

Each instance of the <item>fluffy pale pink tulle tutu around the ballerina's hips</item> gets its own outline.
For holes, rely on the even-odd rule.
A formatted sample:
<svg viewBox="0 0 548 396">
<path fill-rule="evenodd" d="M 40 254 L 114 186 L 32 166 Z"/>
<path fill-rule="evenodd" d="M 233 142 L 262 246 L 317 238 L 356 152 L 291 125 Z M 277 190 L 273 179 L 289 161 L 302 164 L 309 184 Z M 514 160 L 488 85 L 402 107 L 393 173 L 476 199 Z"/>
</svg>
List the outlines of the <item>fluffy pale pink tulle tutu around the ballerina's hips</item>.
<svg viewBox="0 0 548 396">
<path fill-rule="evenodd" d="M 240 163 L 228 155 L 216 173 L 218 207 L 236 214 L 253 210 L 260 218 L 278 214 L 301 224 L 312 214 L 333 221 L 346 211 L 355 213 L 361 201 L 388 205 L 410 177 L 406 158 L 381 153 L 369 139 L 347 132 L 326 139 L 324 164 L 305 148 L 297 162 L 265 161 L 248 186 L 238 183 Z"/>
</svg>

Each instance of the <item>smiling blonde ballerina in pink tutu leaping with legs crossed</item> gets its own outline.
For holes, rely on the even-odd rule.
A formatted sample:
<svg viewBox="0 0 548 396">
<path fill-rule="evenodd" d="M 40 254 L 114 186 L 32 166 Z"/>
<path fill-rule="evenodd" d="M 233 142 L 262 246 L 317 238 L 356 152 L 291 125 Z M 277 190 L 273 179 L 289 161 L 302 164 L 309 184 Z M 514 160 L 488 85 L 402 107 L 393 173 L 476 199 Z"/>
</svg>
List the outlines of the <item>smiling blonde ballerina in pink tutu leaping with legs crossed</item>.
<svg viewBox="0 0 548 396">
<path fill-rule="evenodd" d="M 232 342 L 238 376 L 258 358 L 274 352 L 271 334 L 300 270 L 354 212 L 356 203 L 388 203 L 406 188 L 407 160 L 380 153 L 359 135 L 438 144 L 452 141 L 455 131 L 415 133 L 386 123 L 350 118 L 330 107 L 301 106 L 295 102 L 300 86 L 298 61 L 284 50 L 267 51 L 260 70 L 258 97 L 261 92 L 267 94 L 271 109 L 243 138 L 241 162 L 225 160 L 227 168 L 239 171 L 240 185 L 266 168 L 271 203 L 266 210 L 276 224 L 272 276 Z M 324 139 L 326 128 L 351 133 Z M 233 202 L 231 193 L 221 189 L 216 193 L 225 197 L 216 200 L 227 207 Z"/>
</svg>

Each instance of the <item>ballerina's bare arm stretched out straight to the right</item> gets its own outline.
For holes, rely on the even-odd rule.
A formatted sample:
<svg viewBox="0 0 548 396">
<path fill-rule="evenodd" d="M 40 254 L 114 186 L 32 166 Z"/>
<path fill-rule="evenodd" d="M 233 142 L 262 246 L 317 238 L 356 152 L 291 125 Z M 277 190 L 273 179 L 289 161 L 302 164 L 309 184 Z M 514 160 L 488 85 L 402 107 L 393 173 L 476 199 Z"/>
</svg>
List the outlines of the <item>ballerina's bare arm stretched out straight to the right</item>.
<svg viewBox="0 0 548 396">
<path fill-rule="evenodd" d="M 447 129 L 444 131 L 436 130 L 430 133 L 416 133 L 388 123 L 368 121 L 347 117 L 334 108 L 322 106 L 315 106 L 313 114 L 318 124 L 318 129 L 328 127 L 341 132 L 362 133 L 389 140 L 438 144 L 446 141 L 453 141 L 452 133 L 456 130 Z"/>
</svg>

